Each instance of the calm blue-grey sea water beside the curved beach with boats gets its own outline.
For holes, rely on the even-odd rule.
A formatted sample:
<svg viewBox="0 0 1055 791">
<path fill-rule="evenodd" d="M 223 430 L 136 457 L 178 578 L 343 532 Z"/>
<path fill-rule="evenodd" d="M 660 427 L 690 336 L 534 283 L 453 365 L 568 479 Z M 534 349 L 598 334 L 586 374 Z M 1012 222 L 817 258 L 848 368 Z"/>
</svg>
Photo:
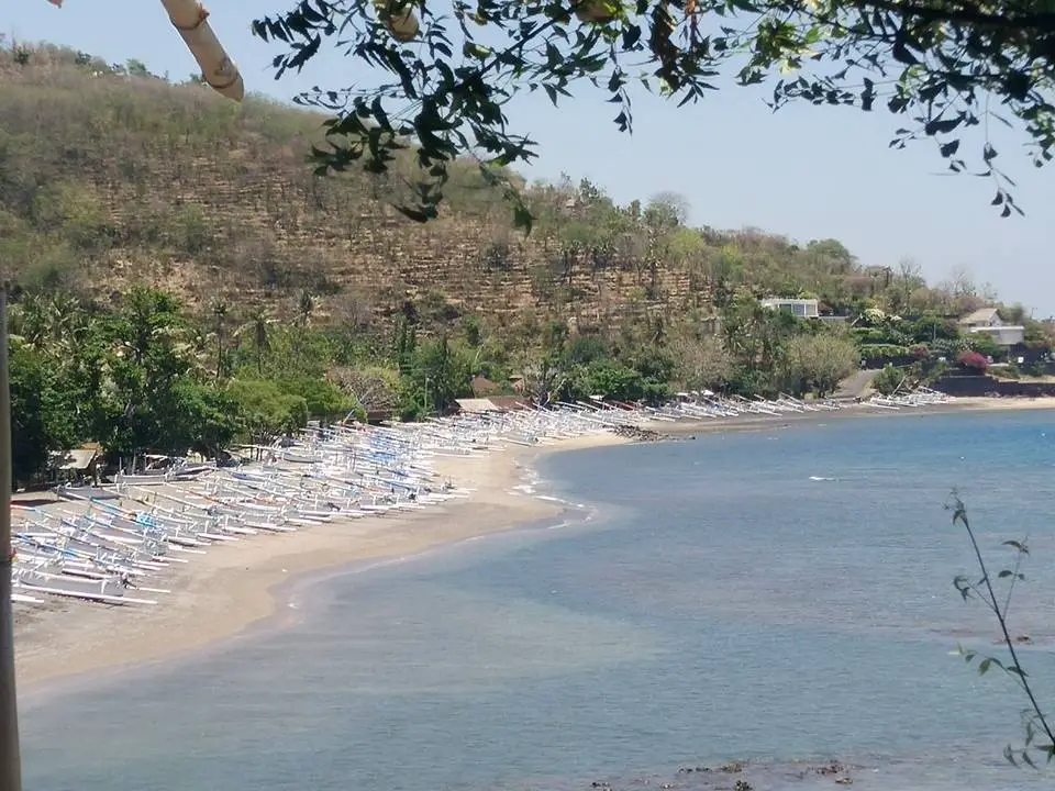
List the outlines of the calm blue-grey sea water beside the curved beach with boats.
<svg viewBox="0 0 1055 791">
<path fill-rule="evenodd" d="M 678 768 L 732 759 L 757 789 L 831 788 L 792 764 L 830 758 L 855 788 L 1040 784 L 1000 757 L 1024 701 L 949 655 L 997 633 L 951 584 L 971 555 L 942 504 L 960 488 L 995 560 L 1029 534 L 1014 626 L 1055 701 L 1052 416 L 840 421 L 541 472 L 589 504 L 559 530 L 293 588 L 288 628 L 30 700 L 25 788 L 711 788 Z"/>
</svg>

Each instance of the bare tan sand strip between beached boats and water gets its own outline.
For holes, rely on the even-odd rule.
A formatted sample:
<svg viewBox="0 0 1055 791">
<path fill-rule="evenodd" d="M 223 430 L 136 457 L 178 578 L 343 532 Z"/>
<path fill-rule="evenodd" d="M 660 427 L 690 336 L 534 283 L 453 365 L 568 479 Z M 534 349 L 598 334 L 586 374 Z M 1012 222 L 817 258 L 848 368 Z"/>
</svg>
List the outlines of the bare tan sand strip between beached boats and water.
<svg viewBox="0 0 1055 791">
<path fill-rule="evenodd" d="M 210 547 L 163 581 L 154 606 L 49 600 L 16 609 L 20 692 L 48 682 L 174 658 L 234 636 L 274 614 L 273 589 L 298 575 L 392 559 L 557 515 L 563 506 L 513 489 L 541 455 L 626 442 L 596 434 L 486 458 L 444 458 L 436 471 L 475 489 L 466 500 L 409 515 L 335 521 L 297 533 Z"/>
</svg>

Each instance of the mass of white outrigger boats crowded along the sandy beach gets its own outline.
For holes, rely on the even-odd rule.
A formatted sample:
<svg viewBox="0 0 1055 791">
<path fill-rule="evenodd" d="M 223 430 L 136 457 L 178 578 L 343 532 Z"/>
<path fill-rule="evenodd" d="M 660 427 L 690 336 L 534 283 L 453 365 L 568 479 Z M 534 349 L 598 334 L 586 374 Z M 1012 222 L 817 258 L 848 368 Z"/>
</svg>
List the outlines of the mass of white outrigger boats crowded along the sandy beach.
<svg viewBox="0 0 1055 791">
<path fill-rule="evenodd" d="M 936 394 L 902 397 L 923 405 Z M 888 399 L 875 402 L 900 408 Z M 423 423 L 313 426 L 238 466 L 152 459 L 112 486 L 60 487 L 58 502 L 12 504 L 14 600 L 49 598 L 152 605 L 173 569 L 210 547 L 264 533 L 419 511 L 470 497 L 435 470 L 445 457 L 484 457 L 648 422 L 830 412 L 832 401 L 679 393 L 664 406 L 585 401 L 508 412 L 463 413 Z"/>
</svg>

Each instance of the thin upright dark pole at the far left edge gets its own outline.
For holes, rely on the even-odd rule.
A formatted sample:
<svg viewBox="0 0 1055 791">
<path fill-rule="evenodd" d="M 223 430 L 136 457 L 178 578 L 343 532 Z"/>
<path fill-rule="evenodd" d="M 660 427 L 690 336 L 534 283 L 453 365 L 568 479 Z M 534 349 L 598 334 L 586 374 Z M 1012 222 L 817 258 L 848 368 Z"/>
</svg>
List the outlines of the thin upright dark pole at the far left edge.
<svg viewBox="0 0 1055 791">
<path fill-rule="evenodd" d="M 0 791 L 22 791 L 19 705 L 14 690 L 11 612 L 11 391 L 8 375 L 8 288 L 0 285 Z"/>
</svg>

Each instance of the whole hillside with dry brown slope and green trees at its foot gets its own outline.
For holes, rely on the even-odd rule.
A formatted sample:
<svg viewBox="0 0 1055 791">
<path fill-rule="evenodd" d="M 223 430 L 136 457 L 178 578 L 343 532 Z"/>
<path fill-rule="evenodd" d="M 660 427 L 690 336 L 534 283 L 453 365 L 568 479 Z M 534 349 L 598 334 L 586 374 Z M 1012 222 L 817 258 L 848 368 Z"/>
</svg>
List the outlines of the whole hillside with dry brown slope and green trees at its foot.
<svg viewBox="0 0 1055 791">
<path fill-rule="evenodd" d="M 617 205 L 588 181 L 524 187 L 524 237 L 466 164 L 440 219 L 413 223 L 392 208 L 404 163 L 311 172 L 320 123 L 136 62 L 0 49 L 19 481 L 81 443 L 126 467 L 145 452 L 220 457 L 310 417 L 419 420 L 481 391 L 824 397 L 862 367 L 899 366 L 875 377 L 886 390 L 946 360 L 1008 358 L 951 321 L 982 303 L 967 278 L 932 289 L 835 239 L 690 227 L 674 194 Z M 853 328 L 769 310 L 767 294 L 815 298 Z M 1023 370 L 1037 372 L 1052 338 L 1025 323 Z"/>
</svg>

